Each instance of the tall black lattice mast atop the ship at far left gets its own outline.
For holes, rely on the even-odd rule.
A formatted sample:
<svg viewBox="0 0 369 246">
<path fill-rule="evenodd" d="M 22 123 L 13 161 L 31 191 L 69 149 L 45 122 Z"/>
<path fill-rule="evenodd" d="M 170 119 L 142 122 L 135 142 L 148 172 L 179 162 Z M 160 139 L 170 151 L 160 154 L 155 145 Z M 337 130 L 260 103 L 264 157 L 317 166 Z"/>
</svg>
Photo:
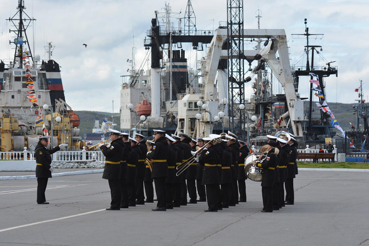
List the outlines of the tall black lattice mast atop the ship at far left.
<svg viewBox="0 0 369 246">
<path fill-rule="evenodd" d="M 13 15 L 13 17 L 9 18 L 8 21 L 12 22 L 16 30 L 9 30 L 9 32 L 14 32 L 17 35 L 17 38 L 14 39 L 13 43 L 15 44 L 15 52 L 14 52 L 14 67 L 23 68 L 23 53 L 26 52 L 26 55 L 32 59 L 33 56 L 31 52 L 30 43 L 28 42 L 27 33 L 25 32 L 30 25 L 31 21 L 35 21 L 36 19 L 29 17 L 23 10 L 24 0 L 18 0 L 18 12 Z M 19 16 L 19 19 L 16 19 Z M 16 24 L 18 21 L 18 24 Z M 26 24 L 24 23 L 26 22 Z M 9 41 L 9 44 L 12 42 Z M 24 45 L 28 46 L 28 51 L 26 51 Z M 19 60 L 19 64 L 16 66 L 16 62 Z"/>
</svg>

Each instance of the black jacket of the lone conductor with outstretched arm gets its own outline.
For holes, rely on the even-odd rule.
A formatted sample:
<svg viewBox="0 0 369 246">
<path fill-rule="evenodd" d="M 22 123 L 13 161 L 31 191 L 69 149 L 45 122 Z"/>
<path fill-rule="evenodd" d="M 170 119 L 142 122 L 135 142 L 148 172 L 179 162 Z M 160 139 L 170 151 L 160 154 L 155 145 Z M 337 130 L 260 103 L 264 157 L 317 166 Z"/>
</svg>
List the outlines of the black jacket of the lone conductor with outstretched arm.
<svg viewBox="0 0 369 246">
<path fill-rule="evenodd" d="M 59 146 L 56 146 L 48 150 L 40 141 L 38 141 L 35 149 L 36 158 L 36 178 L 51 178 L 51 155 L 60 150 Z"/>
</svg>

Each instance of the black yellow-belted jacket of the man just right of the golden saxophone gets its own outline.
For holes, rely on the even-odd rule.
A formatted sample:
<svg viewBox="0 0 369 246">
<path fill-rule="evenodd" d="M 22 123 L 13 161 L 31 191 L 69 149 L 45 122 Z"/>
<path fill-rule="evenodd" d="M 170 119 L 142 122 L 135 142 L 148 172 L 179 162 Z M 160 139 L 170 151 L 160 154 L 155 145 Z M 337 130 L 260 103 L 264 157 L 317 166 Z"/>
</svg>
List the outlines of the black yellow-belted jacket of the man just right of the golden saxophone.
<svg viewBox="0 0 369 246">
<path fill-rule="evenodd" d="M 169 144 L 165 137 L 156 139 L 147 157 L 152 159 L 152 178 L 168 177 L 168 164 L 166 163 L 169 155 Z"/>
</svg>

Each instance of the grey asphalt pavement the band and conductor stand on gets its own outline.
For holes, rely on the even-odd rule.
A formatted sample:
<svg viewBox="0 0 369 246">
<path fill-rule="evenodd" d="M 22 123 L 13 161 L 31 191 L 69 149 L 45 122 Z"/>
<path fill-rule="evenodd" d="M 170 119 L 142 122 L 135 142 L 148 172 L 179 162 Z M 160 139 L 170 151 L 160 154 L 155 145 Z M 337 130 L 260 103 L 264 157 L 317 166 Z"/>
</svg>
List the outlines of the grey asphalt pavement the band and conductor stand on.
<svg viewBox="0 0 369 246">
<path fill-rule="evenodd" d="M 36 179 L 0 180 L 0 246 L 369 245 L 368 172 L 299 171 L 295 205 L 272 213 L 260 212 L 261 186 L 251 180 L 247 202 L 223 211 L 204 212 L 206 202 L 106 211 L 110 190 L 101 176 L 49 179 L 48 205 L 36 203 Z"/>
</svg>

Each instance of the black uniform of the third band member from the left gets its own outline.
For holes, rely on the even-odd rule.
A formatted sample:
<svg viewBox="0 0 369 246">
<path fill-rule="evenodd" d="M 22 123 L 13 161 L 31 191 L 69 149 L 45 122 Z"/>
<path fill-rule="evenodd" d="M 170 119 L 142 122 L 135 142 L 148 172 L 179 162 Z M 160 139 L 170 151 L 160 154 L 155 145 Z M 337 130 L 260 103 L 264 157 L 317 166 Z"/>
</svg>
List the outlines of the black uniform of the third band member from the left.
<svg viewBox="0 0 369 246">
<path fill-rule="evenodd" d="M 131 144 L 131 142 L 128 142 Z M 136 166 L 138 163 L 139 154 L 141 150 L 138 145 L 132 146 L 132 151 L 130 153 L 130 158 L 127 160 L 127 176 L 125 183 L 127 184 L 127 194 L 128 194 L 128 206 L 136 206 Z"/>
</svg>

